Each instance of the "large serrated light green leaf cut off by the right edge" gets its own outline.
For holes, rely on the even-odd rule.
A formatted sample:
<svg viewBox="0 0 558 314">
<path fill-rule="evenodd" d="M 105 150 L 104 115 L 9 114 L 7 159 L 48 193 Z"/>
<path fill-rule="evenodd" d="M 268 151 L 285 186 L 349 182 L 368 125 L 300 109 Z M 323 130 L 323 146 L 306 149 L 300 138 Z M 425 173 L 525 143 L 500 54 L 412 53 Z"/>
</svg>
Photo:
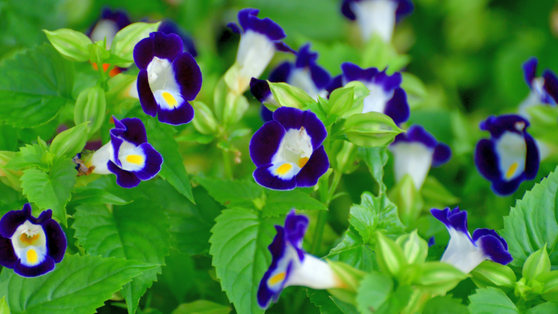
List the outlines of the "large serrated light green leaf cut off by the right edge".
<svg viewBox="0 0 558 314">
<path fill-rule="evenodd" d="M 512 265 L 522 267 L 531 253 L 548 245 L 549 255 L 557 251 L 558 223 L 555 219 L 556 194 L 558 190 L 558 168 L 526 192 L 521 201 L 504 217 L 504 230 L 500 234 L 506 239 L 514 260 Z"/>
</svg>

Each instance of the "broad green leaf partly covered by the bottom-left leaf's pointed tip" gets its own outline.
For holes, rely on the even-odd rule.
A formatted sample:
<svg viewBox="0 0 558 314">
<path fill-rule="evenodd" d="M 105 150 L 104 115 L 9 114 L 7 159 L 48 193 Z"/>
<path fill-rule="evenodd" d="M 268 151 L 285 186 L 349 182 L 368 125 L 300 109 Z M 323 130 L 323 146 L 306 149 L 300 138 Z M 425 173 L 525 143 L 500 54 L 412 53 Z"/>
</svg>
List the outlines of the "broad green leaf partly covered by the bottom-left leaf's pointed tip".
<svg viewBox="0 0 558 314">
<path fill-rule="evenodd" d="M 156 204 L 141 201 L 114 206 L 112 213 L 103 205 L 81 205 L 77 206 L 74 218 L 75 237 L 88 253 L 165 264 L 168 218 Z M 122 294 L 128 313 L 135 313 L 140 298 L 159 273 L 161 267 L 154 268 L 124 286 Z"/>
</svg>

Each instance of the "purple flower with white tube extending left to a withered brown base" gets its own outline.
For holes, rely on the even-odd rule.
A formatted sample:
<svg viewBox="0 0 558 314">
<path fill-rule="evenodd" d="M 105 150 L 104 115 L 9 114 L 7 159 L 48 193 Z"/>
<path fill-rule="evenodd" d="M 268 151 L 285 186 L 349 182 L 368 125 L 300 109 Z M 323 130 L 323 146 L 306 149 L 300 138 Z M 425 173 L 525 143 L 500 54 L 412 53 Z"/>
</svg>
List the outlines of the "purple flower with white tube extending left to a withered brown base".
<svg viewBox="0 0 558 314">
<path fill-rule="evenodd" d="M 141 181 L 150 180 L 161 171 L 163 156 L 147 143 L 142 120 L 114 118 L 111 141 L 89 156 L 78 154 L 74 158 L 80 175 L 116 175 L 120 187 L 137 187 Z"/>
</svg>

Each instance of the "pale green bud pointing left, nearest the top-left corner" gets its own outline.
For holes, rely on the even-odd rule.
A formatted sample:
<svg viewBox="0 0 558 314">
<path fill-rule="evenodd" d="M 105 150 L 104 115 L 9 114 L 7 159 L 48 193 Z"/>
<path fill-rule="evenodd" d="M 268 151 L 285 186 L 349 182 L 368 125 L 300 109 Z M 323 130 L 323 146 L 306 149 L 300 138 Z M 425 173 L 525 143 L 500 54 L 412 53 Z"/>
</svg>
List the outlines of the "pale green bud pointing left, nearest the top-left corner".
<svg viewBox="0 0 558 314">
<path fill-rule="evenodd" d="M 91 39 L 81 32 L 61 28 L 60 30 L 43 30 L 46 38 L 52 46 L 69 61 L 84 62 L 89 60 L 89 49 L 87 46 L 92 44 Z"/>
</svg>

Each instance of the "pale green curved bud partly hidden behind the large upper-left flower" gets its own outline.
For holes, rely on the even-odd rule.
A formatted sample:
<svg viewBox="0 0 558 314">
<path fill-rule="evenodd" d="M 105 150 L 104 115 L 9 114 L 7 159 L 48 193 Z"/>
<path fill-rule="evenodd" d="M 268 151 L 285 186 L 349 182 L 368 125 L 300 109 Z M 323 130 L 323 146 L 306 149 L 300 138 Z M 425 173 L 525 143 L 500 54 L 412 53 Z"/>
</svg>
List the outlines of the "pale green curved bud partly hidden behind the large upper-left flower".
<svg viewBox="0 0 558 314">
<path fill-rule="evenodd" d="M 135 45 L 140 42 L 140 40 L 149 37 L 149 33 L 156 32 L 159 28 L 159 24 L 161 24 L 161 22 L 133 23 L 116 33 L 111 43 L 111 54 L 115 54 L 125 60 L 130 60 L 130 62 L 116 63 L 115 65 L 120 68 L 128 68 L 132 65 L 131 61 L 134 60 Z"/>
</svg>

